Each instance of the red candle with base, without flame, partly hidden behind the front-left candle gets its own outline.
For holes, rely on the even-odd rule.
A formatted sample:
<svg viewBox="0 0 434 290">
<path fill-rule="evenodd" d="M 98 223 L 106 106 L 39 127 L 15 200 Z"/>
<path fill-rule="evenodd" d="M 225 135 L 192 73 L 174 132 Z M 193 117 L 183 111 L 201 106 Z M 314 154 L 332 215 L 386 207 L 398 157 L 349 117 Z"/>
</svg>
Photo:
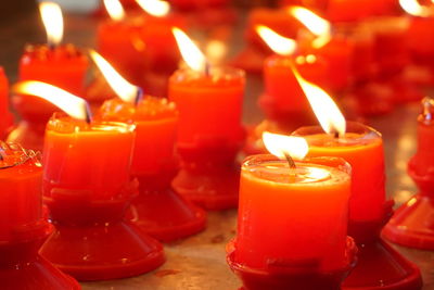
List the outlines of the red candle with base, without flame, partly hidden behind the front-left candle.
<svg viewBox="0 0 434 290">
<path fill-rule="evenodd" d="M 164 242 L 203 230 L 205 211 L 184 200 L 170 186 L 178 171 L 175 159 L 178 111 L 174 103 L 150 96 L 137 105 L 113 99 L 103 104 L 100 117 L 136 124 L 131 175 L 139 180 L 139 196 L 132 200 L 127 218 Z"/>
</svg>

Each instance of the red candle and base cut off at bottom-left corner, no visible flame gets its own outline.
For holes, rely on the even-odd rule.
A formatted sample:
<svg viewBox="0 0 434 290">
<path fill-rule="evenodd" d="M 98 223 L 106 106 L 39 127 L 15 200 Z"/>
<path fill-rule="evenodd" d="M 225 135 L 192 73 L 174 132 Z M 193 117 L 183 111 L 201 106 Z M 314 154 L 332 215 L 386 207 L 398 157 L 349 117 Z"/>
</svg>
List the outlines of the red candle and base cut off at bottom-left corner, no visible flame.
<svg viewBox="0 0 434 290">
<path fill-rule="evenodd" d="M 13 198 L 20 199 L 20 197 L 24 194 L 27 198 L 35 197 L 36 200 L 39 200 L 39 202 L 35 202 L 35 200 L 21 200 L 20 204 L 13 204 L 12 202 L 11 204 L 8 204 L 11 207 L 11 211 L 13 211 L 10 213 L 11 216 L 9 216 L 9 218 L 11 218 L 13 214 L 18 212 L 14 211 L 17 209 L 13 209 L 13 206 L 23 206 L 24 202 L 28 202 L 26 203 L 27 211 L 26 213 L 23 213 L 28 216 L 22 217 L 22 220 L 20 220 L 18 224 L 11 227 L 8 237 L 2 236 L 2 238 L 0 238 L 0 279 L 2 288 L 14 290 L 81 289 L 74 278 L 63 274 L 38 253 L 39 248 L 53 230 L 53 227 L 41 214 L 41 192 L 37 187 L 40 181 L 35 182 L 36 180 L 40 180 L 40 175 L 42 173 L 39 154 L 34 151 L 26 151 L 17 144 L 7 144 L 1 142 L 0 144 L 2 161 L 5 159 L 5 155 L 7 157 L 12 155 L 18 157 L 17 163 L 12 166 L 9 165 L 8 167 L 0 166 L 0 171 L 13 171 L 13 167 L 22 167 L 21 173 L 15 173 L 20 175 L 21 184 L 20 189 L 16 192 L 13 192 Z M 25 166 L 28 167 L 25 168 Z M 31 169 L 31 167 L 35 168 Z M 25 174 L 29 174 L 28 179 Z M 35 176 L 36 179 L 34 178 Z M 4 185 L 3 191 L 4 193 L 8 192 L 8 185 Z M 34 192 L 35 196 L 33 194 Z M 4 194 L 3 197 L 8 197 L 8 194 Z M 8 203 L 8 201 L 3 202 Z M 38 209 L 30 209 L 33 206 Z M 35 217 L 33 217 L 34 214 L 36 214 Z M 30 219 L 34 220 L 30 222 Z M 9 223 L 9 220 L 7 223 Z M 2 226 L 4 226 L 3 223 Z"/>
</svg>

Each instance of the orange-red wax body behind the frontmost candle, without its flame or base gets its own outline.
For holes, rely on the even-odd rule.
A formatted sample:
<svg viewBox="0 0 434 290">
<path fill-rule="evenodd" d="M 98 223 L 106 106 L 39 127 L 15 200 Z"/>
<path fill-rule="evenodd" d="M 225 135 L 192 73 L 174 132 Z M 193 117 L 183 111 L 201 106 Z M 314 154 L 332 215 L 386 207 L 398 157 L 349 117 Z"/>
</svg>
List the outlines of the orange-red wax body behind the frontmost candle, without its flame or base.
<svg viewBox="0 0 434 290">
<path fill-rule="evenodd" d="M 349 219 L 355 223 L 382 220 L 385 203 L 384 153 L 381 135 L 359 123 L 347 123 L 345 136 L 335 139 L 320 127 L 294 133 L 309 142 L 309 156 L 336 156 L 352 165 Z"/>
</svg>

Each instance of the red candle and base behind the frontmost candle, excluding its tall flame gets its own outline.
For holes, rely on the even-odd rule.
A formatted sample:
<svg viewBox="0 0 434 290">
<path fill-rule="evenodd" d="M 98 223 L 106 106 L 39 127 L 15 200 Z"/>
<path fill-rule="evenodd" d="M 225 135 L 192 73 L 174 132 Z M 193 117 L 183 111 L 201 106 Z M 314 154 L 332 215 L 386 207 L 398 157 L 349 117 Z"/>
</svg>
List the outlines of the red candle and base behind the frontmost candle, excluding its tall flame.
<svg viewBox="0 0 434 290">
<path fill-rule="evenodd" d="M 418 267 L 380 238 L 392 214 L 385 201 L 384 156 L 381 135 L 362 124 L 347 122 L 345 136 L 335 139 L 321 127 L 303 127 L 294 136 L 306 138 L 309 156 L 337 156 L 352 165 L 348 235 L 358 248 L 358 263 L 344 289 L 419 289 Z M 398 265 L 398 266 L 397 266 Z"/>
</svg>

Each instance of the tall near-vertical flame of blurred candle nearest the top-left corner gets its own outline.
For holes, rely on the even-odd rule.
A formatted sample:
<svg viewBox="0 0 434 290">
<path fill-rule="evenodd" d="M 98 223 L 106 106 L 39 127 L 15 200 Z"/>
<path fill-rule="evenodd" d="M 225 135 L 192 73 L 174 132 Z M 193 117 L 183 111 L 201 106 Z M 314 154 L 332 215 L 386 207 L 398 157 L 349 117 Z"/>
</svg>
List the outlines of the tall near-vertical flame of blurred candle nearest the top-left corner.
<svg viewBox="0 0 434 290">
<path fill-rule="evenodd" d="M 63 38 L 61 7 L 54 2 L 41 2 L 39 3 L 39 11 L 47 31 L 47 42 L 51 46 L 58 46 Z"/>
</svg>

